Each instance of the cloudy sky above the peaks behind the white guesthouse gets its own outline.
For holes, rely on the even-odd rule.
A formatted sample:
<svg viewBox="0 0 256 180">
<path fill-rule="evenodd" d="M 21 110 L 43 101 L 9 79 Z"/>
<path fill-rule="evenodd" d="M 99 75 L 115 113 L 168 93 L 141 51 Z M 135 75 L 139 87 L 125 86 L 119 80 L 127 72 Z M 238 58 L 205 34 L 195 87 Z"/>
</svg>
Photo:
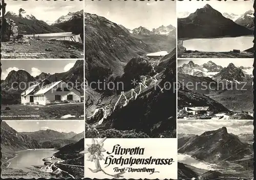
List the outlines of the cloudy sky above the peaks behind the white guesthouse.
<svg viewBox="0 0 256 180">
<path fill-rule="evenodd" d="M 32 76 L 39 75 L 41 72 L 54 74 L 66 72 L 72 68 L 76 60 L 2 60 L 1 79 L 5 80 L 8 73 L 12 70 L 23 69 Z"/>
</svg>

